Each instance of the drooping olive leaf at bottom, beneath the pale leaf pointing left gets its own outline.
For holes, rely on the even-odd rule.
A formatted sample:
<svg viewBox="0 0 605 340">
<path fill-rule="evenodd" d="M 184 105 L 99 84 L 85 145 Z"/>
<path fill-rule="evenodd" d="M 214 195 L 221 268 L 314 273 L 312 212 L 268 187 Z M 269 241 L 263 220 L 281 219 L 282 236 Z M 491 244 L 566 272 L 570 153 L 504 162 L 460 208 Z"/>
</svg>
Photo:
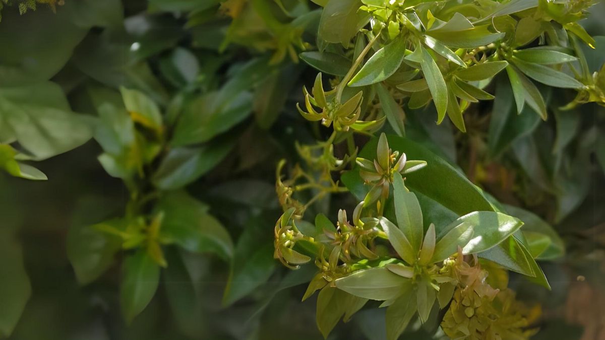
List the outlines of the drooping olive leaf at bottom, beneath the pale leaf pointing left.
<svg viewBox="0 0 605 340">
<path fill-rule="evenodd" d="M 326 286 L 317 296 L 316 320 L 319 332 L 327 338 L 338 321 L 350 318 L 364 306 L 367 299 L 350 295 L 335 287 Z"/>
</svg>

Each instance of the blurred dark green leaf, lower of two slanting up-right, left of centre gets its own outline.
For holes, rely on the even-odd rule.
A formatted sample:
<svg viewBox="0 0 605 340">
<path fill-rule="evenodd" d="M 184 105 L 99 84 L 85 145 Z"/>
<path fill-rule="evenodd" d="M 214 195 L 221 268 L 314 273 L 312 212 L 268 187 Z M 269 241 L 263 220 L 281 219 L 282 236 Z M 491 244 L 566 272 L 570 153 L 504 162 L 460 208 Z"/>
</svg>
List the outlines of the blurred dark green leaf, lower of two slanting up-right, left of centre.
<svg viewBox="0 0 605 340">
<path fill-rule="evenodd" d="M 153 183 L 163 190 L 182 188 L 214 168 L 233 146 L 234 140 L 222 140 L 197 148 L 172 148 L 155 171 Z"/>
</svg>

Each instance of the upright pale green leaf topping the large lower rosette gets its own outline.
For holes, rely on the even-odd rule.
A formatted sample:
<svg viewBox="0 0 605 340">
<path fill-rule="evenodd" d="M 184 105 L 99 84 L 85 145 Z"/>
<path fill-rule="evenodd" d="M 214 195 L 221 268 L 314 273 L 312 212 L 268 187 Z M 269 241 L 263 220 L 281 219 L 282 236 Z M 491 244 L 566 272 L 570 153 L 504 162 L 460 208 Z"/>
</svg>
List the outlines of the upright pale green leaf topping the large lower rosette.
<svg viewBox="0 0 605 340">
<path fill-rule="evenodd" d="M 413 252 L 417 253 L 420 250 L 422 234 L 424 233 L 420 204 L 416 195 L 405 188 L 404 178 L 401 177 L 399 172 L 393 175 L 393 188 L 397 227 L 402 230 L 407 240 L 410 241 Z"/>
</svg>

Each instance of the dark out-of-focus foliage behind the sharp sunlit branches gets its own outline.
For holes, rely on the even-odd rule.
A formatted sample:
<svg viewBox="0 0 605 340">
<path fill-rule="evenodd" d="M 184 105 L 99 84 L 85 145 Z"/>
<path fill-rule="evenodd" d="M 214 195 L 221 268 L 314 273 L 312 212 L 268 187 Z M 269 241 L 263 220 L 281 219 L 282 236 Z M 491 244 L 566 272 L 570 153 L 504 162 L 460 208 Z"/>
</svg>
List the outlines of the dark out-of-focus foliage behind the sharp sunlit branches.
<svg viewBox="0 0 605 340">
<path fill-rule="evenodd" d="M 296 160 L 294 140 L 323 134 L 295 109 L 303 99 L 300 88 L 309 87 L 316 74 L 298 53 L 316 44 L 318 6 L 295 0 L 267 6 L 245 0 L 38 2 L 0 0 L 0 124 L 17 124 L 10 120 L 14 105 L 44 107 L 59 117 L 40 122 L 56 134 L 29 144 L 18 140 L 26 159 L 41 160 L 35 166 L 47 181 L 0 172 L 0 337 L 321 339 L 314 299 L 300 302 L 315 270 L 278 266 L 271 232 L 282 212 L 276 163 Z M 581 24 L 592 36 L 604 35 L 605 5 L 591 11 Z M 596 47 L 586 49 L 591 71 L 603 64 L 605 39 L 597 38 Z M 497 86 L 494 108 L 512 105 Z M 164 114 L 159 123 L 132 117 L 136 127 L 123 128 L 134 131 L 135 142 L 121 141 L 131 144 L 114 152 L 115 140 L 107 142 L 103 131 L 90 126 L 97 126 L 97 117 L 112 129 L 120 123 L 120 87 L 124 98 L 126 88 L 137 90 Z M 558 103 L 552 108 L 573 99 L 546 91 Z M 102 103 L 115 105 L 103 113 Z M 205 108 L 216 112 L 196 114 Z M 554 109 L 554 119 L 546 122 L 501 110 L 504 131 L 490 128 L 497 110 L 471 110 L 466 134 L 450 122 L 434 125 L 422 110 L 407 110 L 408 136 L 457 163 L 499 200 L 549 221 L 565 241 L 565 258 L 541 263 L 552 291 L 511 276 L 518 298 L 542 305 L 535 339 L 605 336 L 603 110 L 594 103 L 572 114 Z M 187 195 L 178 192 L 168 201 L 198 204 L 166 214 L 165 221 L 209 212 L 219 231 L 210 237 L 185 234 L 181 243 L 172 235 L 157 258 L 168 263 L 157 274 L 157 292 L 152 290 L 140 315 L 126 315 L 129 323 L 120 285 L 123 263 L 135 255 L 118 246 L 115 255 L 88 258 L 90 249 L 106 249 L 109 241 L 87 228 L 128 215 L 133 192 L 149 194 L 150 186 L 186 187 Z M 313 211 L 335 216 L 332 207 L 338 205 L 330 200 L 356 203 L 333 195 Z M 87 271 L 94 266 L 96 271 Z M 149 295 L 141 290 L 133 294 Z M 384 339 L 384 329 L 384 310 L 362 310 L 330 339 Z M 407 336 L 431 338 L 419 325 Z"/>
</svg>

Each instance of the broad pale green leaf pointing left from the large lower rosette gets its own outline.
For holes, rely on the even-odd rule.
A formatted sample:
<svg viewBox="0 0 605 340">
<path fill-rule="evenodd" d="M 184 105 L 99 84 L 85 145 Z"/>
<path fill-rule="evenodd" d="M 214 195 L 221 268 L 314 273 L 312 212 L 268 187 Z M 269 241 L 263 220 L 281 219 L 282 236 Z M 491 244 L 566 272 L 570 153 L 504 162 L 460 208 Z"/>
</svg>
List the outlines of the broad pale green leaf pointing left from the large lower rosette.
<svg viewBox="0 0 605 340">
<path fill-rule="evenodd" d="M 379 267 L 358 270 L 336 280 L 336 287 L 360 298 L 385 301 L 397 298 L 410 279 Z"/>
</svg>

